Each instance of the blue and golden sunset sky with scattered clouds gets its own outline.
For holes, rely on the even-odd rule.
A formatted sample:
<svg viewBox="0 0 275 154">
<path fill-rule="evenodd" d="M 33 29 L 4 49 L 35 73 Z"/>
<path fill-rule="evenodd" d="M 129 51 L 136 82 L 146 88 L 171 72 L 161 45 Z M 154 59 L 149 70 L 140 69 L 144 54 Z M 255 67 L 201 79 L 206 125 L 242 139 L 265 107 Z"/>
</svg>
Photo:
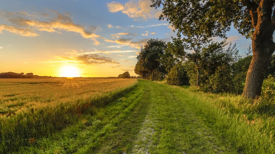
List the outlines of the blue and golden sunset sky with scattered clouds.
<svg viewBox="0 0 275 154">
<path fill-rule="evenodd" d="M 40 76 L 117 77 L 129 71 L 149 39 L 176 37 L 150 0 L 0 2 L 0 72 Z M 240 55 L 251 44 L 227 32 Z M 217 39 L 218 40 L 218 39 Z M 71 73 L 71 74 L 70 74 Z"/>
</svg>

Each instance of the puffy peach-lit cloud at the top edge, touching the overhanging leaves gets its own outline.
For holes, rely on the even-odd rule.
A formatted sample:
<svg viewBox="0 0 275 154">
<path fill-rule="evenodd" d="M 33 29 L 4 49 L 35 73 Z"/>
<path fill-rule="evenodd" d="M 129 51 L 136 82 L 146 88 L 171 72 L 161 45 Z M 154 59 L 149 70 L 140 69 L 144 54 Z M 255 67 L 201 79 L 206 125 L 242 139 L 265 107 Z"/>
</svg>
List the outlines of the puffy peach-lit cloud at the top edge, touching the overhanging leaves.
<svg viewBox="0 0 275 154">
<path fill-rule="evenodd" d="M 150 5 L 152 2 L 150 0 L 129 0 L 122 5 L 119 2 L 107 3 L 108 10 L 112 13 L 122 11 L 122 13 L 127 14 L 130 18 L 142 18 L 147 20 L 148 18 L 159 18 L 161 14 L 160 9 L 156 10 Z"/>
</svg>

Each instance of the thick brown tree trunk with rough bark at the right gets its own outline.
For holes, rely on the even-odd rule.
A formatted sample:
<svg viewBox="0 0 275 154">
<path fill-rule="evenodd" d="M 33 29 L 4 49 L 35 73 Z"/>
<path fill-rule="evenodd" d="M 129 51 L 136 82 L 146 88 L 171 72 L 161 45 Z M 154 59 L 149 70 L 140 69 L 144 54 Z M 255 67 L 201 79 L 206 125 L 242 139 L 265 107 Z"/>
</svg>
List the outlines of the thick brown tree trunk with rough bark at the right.
<svg viewBox="0 0 275 154">
<path fill-rule="evenodd" d="M 253 56 L 243 89 L 243 97 L 252 99 L 261 94 L 264 72 L 267 70 L 271 56 L 275 50 L 275 43 L 273 42 L 273 33 L 275 30 L 275 17 L 272 17 L 272 13 L 275 13 L 272 12 L 273 2 L 261 0 L 257 11 L 255 11 L 256 8 L 254 6 L 251 3 L 247 3 L 255 31 L 252 36 Z"/>
</svg>

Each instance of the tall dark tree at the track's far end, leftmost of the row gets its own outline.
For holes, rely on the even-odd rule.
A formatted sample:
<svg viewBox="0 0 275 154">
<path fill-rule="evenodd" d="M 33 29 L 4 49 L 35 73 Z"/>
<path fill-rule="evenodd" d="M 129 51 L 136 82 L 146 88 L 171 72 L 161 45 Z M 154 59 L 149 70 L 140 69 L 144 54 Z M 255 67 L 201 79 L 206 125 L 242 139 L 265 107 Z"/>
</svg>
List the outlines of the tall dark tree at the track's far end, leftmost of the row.
<svg viewBox="0 0 275 154">
<path fill-rule="evenodd" d="M 167 45 L 159 39 L 150 39 L 137 55 L 135 73 L 143 79 L 158 80 L 165 75 L 165 67 L 160 64 L 160 56 L 163 55 Z"/>
</svg>

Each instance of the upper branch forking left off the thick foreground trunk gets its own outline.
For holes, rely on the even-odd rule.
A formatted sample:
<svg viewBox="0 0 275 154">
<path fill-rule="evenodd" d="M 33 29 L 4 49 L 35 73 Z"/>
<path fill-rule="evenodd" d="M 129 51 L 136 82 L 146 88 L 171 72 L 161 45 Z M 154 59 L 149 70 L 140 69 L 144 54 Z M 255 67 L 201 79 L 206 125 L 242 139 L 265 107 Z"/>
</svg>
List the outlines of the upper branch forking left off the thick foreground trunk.
<svg viewBox="0 0 275 154">
<path fill-rule="evenodd" d="M 244 6 L 247 7 L 247 10 L 250 12 L 252 18 L 252 25 L 256 28 L 258 22 L 258 13 L 257 8 L 259 4 L 252 2 L 251 0 L 243 0 L 241 1 Z"/>
</svg>

